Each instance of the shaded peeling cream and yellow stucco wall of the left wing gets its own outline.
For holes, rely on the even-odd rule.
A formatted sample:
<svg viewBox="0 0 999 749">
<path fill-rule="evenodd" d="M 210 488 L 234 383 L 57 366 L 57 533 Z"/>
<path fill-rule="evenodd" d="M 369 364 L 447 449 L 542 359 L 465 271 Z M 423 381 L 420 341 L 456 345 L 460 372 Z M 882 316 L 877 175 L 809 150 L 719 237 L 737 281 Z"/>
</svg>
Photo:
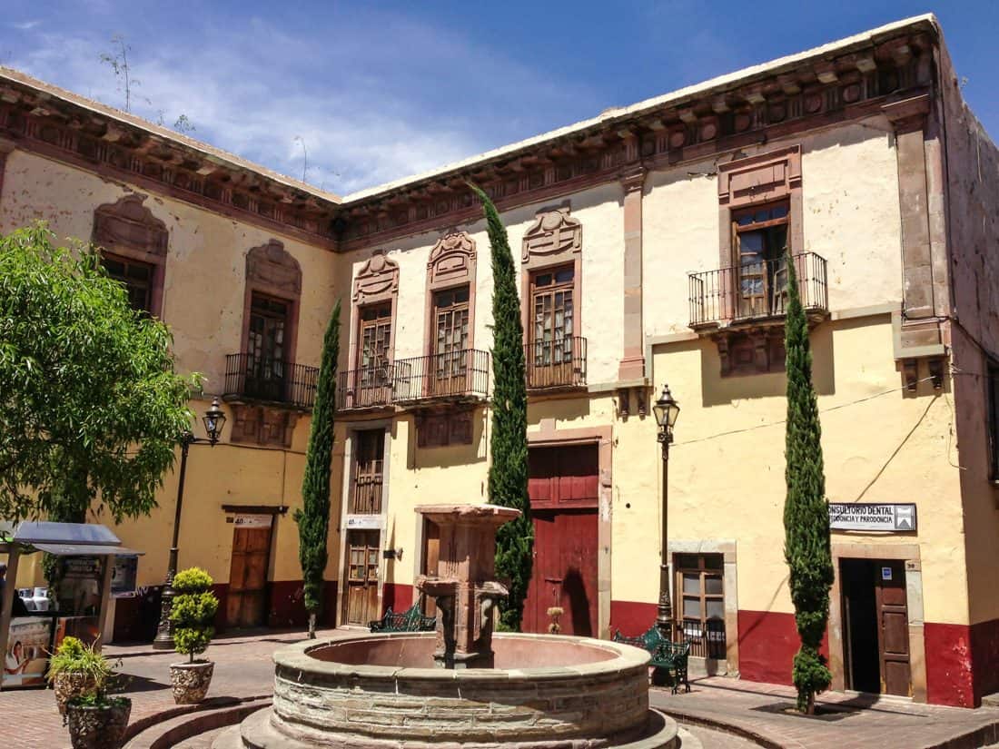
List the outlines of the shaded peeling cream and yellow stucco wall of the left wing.
<svg viewBox="0 0 999 749">
<path fill-rule="evenodd" d="M 241 346 L 246 254 L 271 239 L 282 242 L 302 268 L 296 362 L 319 366 L 323 333 L 334 299 L 336 264 L 327 250 L 22 151 L 13 152 L 7 159 L 0 199 L 0 231 L 42 219 L 49 222 L 60 241 L 70 237 L 89 240 L 94 210 L 136 192 L 149 195 L 144 205 L 166 224 L 170 235 L 162 318 L 174 334 L 179 372 L 202 373 L 206 377 L 206 393 L 222 392 L 226 355 L 239 352 Z M 209 399 L 191 401 L 199 416 L 196 433 L 200 432 L 200 415 L 208 403 Z M 215 447 L 205 444 L 191 447 L 181 520 L 180 564 L 197 563 L 206 567 L 216 581 L 228 581 L 233 525 L 226 522 L 221 505 L 284 504 L 290 511 L 277 517 L 269 578 L 301 579 L 298 528 L 292 513 L 302 505 L 310 418 L 308 415 L 299 418 L 290 449 L 256 449 L 229 443 L 233 419 L 228 406 L 226 411 L 230 419 L 222 443 Z M 342 459 L 335 459 L 335 480 L 339 480 L 342 464 Z M 176 492 L 177 473 L 168 472 L 158 493 L 159 506 L 150 517 L 113 526 L 125 545 L 146 552 L 139 561 L 139 585 L 159 584 L 163 580 Z M 94 519 L 111 524 L 108 518 Z M 331 543 L 336 542 L 334 534 Z M 336 570 L 335 559 L 336 554 L 331 554 L 331 577 Z M 36 560 L 28 557 L 18 583 L 40 582 L 37 567 Z"/>
</svg>

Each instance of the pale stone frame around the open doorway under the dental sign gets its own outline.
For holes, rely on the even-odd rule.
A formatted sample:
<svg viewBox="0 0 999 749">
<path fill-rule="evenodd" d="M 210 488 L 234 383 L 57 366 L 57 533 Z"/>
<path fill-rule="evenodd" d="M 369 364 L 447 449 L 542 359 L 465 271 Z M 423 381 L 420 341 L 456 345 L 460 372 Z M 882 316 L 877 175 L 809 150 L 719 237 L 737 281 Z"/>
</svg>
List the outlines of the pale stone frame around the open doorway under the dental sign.
<svg viewBox="0 0 999 749">
<path fill-rule="evenodd" d="M 840 559 L 891 559 L 905 563 L 905 596 L 909 617 L 909 672 L 912 701 L 926 702 L 926 644 L 923 636 L 923 573 L 918 543 L 832 543 L 835 576 L 829 591 L 829 670 L 832 688 L 846 691 L 843 670 L 843 600 Z"/>
</svg>

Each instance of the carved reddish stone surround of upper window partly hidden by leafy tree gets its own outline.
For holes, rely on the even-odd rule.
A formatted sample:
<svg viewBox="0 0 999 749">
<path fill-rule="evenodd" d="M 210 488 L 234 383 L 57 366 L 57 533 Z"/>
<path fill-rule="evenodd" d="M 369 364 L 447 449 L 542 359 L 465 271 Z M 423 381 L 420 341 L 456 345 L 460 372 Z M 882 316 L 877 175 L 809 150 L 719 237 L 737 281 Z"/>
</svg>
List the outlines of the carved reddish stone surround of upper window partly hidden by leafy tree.
<svg viewBox="0 0 999 749">
<path fill-rule="evenodd" d="M 163 286 L 166 276 L 167 248 L 170 232 L 143 205 L 144 195 L 126 195 L 116 203 L 108 203 L 94 211 L 91 241 L 109 256 L 138 261 L 152 267 L 149 314 L 163 314 Z"/>
</svg>

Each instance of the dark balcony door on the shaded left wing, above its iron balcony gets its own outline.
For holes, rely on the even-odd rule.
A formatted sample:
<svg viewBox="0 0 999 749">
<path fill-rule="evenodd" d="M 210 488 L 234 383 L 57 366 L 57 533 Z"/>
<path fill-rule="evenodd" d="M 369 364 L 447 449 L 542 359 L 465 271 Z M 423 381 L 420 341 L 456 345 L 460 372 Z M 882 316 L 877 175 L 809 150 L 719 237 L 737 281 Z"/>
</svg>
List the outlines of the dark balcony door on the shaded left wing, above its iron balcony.
<svg viewBox="0 0 999 749">
<path fill-rule="evenodd" d="M 289 304 L 254 293 L 247 339 L 246 394 L 266 400 L 285 399 Z"/>
</svg>

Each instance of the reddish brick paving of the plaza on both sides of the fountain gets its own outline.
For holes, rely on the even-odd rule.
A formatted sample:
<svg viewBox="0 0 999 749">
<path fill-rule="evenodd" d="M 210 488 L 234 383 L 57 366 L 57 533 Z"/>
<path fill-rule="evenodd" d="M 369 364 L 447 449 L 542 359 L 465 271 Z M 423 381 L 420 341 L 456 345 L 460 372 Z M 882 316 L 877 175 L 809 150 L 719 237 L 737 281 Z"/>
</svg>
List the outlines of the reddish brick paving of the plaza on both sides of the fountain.
<svg viewBox="0 0 999 749">
<path fill-rule="evenodd" d="M 321 631 L 319 636 L 327 633 Z M 249 700 L 269 696 L 273 678 L 271 653 L 284 643 L 302 638 L 301 631 L 267 631 L 218 639 L 209 651 L 216 662 L 209 692 L 211 704 L 224 704 L 226 698 Z M 158 714 L 167 718 L 170 716 L 167 711 L 176 713 L 167 670 L 176 660 L 176 654 L 153 651 L 148 645 L 109 645 L 106 652 L 120 657 L 122 671 L 131 677 L 127 692 L 133 700 L 133 724 Z M 794 700 L 789 687 L 725 677 L 695 679 L 691 687 L 689 694 L 676 695 L 655 689 L 652 704 L 672 714 L 700 740 L 704 749 L 752 746 L 961 749 L 999 741 L 999 708 L 966 710 L 917 705 L 898 698 L 872 703 L 863 697 L 836 693 L 819 700 L 820 715 L 805 718 L 784 712 Z M 190 713 L 170 718 L 171 725 L 189 719 Z M 5 726 L 4 749 L 69 747 L 69 736 L 51 691 L 0 693 L 0 721 Z M 215 728 L 174 745 L 208 749 L 220 730 Z M 150 733 L 155 734 L 155 730 L 138 734 L 127 745 L 128 749 L 149 747 Z"/>
</svg>

